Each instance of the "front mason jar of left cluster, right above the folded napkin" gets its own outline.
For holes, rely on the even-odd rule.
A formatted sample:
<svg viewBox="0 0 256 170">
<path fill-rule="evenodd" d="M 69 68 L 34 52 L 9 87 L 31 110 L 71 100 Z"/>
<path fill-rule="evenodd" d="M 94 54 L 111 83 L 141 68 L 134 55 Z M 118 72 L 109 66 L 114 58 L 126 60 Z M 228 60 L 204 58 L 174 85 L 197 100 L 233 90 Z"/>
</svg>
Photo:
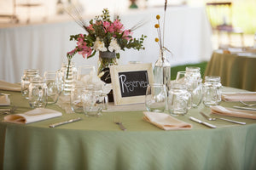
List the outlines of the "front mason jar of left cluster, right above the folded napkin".
<svg viewBox="0 0 256 170">
<path fill-rule="evenodd" d="M 47 85 L 44 77 L 34 77 L 29 85 L 28 100 L 32 108 L 46 107 Z"/>
</svg>

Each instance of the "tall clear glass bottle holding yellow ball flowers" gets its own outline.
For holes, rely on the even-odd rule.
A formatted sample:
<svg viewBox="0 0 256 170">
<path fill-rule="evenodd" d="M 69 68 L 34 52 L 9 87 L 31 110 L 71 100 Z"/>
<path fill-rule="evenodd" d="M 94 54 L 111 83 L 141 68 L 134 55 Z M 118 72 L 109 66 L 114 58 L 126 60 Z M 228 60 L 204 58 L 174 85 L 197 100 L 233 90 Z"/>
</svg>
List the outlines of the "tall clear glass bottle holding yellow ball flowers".
<svg viewBox="0 0 256 170">
<path fill-rule="evenodd" d="M 167 90 L 171 86 L 171 64 L 166 59 L 166 49 L 160 49 L 159 59 L 154 64 L 154 82 L 166 85 Z"/>
</svg>

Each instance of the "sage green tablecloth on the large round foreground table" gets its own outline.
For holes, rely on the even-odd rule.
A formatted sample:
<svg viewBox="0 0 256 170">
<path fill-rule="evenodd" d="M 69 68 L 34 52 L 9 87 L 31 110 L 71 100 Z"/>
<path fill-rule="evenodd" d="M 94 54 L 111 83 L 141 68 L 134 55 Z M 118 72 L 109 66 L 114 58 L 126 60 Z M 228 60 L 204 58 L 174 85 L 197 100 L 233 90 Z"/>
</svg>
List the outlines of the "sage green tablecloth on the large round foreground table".
<svg viewBox="0 0 256 170">
<path fill-rule="evenodd" d="M 234 91 L 233 88 L 226 90 Z M 10 95 L 18 112 L 32 110 L 18 92 Z M 237 103 L 222 103 L 231 106 Z M 47 108 L 62 111 L 56 105 Z M 189 116 L 209 108 L 201 105 L 177 118 L 193 125 L 191 130 L 164 131 L 143 121 L 143 111 L 104 112 L 101 117 L 66 114 L 27 125 L 0 122 L 1 169 L 256 169 L 256 120 L 211 122 L 211 129 L 189 121 Z M 120 115 L 127 131 L 113 123 Z M 74 117 L 83 120 L 61 127 L 49 124 Z M 3 116 L 0 116 L 3 120 Z M 205 121 L 205 120 L 204 120 Z"/>
</svg>

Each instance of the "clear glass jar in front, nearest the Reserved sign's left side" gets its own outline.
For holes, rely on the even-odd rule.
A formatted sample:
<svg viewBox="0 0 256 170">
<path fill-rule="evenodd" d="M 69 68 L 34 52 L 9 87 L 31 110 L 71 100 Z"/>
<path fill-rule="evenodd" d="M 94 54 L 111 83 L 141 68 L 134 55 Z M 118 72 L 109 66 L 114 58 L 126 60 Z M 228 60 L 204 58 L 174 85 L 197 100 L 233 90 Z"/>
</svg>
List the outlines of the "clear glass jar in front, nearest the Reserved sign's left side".
<svg viewBox="0 0 256 170">
<path fill-rule="evenodd" d="M 102 116 L 104 96 L 102 89 L 88 86 L 83 93 L 83 109 L 86 116 Z"/>
</svg>

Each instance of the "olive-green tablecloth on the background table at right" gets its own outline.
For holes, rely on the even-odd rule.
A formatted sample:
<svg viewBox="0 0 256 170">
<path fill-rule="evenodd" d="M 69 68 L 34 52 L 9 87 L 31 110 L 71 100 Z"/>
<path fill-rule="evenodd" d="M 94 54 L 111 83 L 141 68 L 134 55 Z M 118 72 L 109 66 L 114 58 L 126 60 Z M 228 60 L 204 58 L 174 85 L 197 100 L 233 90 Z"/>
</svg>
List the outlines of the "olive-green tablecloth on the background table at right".
<svg viewBox="0 0 256 170">
<path fill-rule="evenodd" d="M 256 56 L 213 52 L 205 76 L 220 76 L 227 87 L 256 91 Z"/>
</svg>

